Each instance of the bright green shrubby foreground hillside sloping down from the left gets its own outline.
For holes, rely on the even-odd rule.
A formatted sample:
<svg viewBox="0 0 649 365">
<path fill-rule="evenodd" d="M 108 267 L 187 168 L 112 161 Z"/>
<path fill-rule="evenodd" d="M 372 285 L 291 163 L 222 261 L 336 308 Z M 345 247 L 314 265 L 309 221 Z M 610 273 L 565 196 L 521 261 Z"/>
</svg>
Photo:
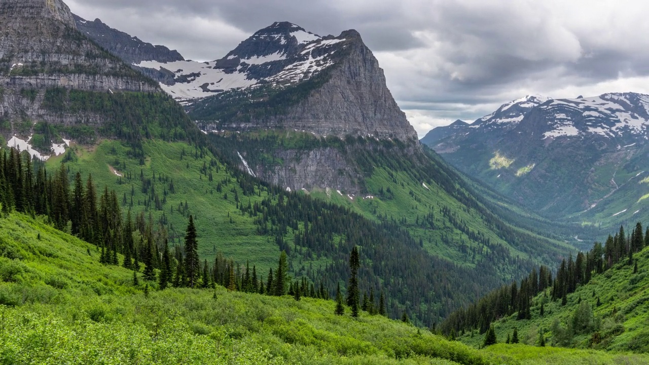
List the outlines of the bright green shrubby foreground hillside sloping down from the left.
<svg viewBox="0 0 649 365">
<path fill-rule="evenodd" d="M 487 351 L 334 302 L 156 290 L 99 264 L 94 245 L 22 214 L 0 218 L 0 361 L 6 364 L 616 364 L 636 355 L 494 346 Z M 144 285 L 148 284 L 148 290 Z M 555 362 L 556 361 L 556 362 Z"/>
</svg>

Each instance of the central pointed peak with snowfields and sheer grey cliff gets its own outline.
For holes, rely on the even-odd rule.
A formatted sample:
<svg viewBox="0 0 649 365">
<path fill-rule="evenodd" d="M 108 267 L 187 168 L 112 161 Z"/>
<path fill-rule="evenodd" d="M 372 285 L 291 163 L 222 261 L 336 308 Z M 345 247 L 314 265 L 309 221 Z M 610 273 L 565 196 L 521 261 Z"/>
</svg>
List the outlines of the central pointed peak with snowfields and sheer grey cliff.
<svg viewBox="0 0 649 365">
<path fill-rule="evenodd" d="M 140 62 L 171 71 L 160 86 L 210 130 L 297 129 L 414 140 L 383 70 L 356 31 L 318 36 L 273 23 L 213 62 Z"/>
</svg>

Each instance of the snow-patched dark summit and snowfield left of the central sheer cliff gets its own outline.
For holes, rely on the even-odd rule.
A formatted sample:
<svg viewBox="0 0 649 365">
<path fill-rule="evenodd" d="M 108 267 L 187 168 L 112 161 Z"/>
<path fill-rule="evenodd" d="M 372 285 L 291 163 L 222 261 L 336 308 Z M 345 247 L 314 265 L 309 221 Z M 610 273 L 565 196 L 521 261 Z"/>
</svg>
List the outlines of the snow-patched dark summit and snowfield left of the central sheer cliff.
<svg viewBox="0 0 649 365">
<path fill-rule="evenodd" d="M 273 23 L 210 62 L 143 61 L 134 66 L 162 71 L 173 78 L 160 87 L 178 101 L 196 99 L 260 84 L 286 87 L 306 81 L 335 64 L 336 52 L 347 47 L 345 37 L 321 37 L 292 23 Z"/>
</svg>

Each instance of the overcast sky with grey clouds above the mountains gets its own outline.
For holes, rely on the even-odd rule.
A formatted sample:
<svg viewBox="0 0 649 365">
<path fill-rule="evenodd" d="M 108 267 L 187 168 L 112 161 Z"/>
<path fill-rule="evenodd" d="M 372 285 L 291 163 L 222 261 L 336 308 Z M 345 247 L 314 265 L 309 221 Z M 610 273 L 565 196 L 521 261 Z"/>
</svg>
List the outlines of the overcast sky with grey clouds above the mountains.
<svg viewBox="0 0 649 365">
<path fill-rule="evenodd" d="M 186 59 L 223 57 L 290 21 L 356 29 L 419 136 L 528 94 L 649 94 L 649 2 L 631 0 L 67 0 L 82 18 Z"/>
</svg>

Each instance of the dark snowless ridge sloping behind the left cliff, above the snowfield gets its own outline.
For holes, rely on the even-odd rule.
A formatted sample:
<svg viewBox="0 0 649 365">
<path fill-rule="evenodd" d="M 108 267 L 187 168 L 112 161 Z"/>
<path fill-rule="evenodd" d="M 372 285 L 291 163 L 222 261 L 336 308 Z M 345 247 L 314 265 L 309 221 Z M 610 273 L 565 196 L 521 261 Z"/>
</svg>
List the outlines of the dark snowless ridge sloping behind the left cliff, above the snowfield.
<svg viewBox="0 0 649 365">
<path fill-rule="evenodd" d="M 77 29 L 110 53 L 129 64 L 156 60 L 159 62 L 184 61 L 178 51 L 171 51 L 164 45 L 153 45 L 132 37 L 125 32 L 108 27 L 101 20 L 87 21 L 73 14 Z"/>
</svg>

